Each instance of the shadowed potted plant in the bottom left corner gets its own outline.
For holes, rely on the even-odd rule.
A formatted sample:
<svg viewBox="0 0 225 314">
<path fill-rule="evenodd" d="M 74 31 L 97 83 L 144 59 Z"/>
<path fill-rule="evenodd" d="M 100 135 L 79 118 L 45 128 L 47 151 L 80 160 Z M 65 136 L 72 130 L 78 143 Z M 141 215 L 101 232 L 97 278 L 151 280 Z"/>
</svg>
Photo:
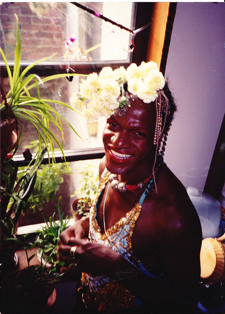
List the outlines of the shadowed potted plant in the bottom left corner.
<svg viewBox="0 0 225 314">
<path fill-rule="evenodd" d="M 32 249 L 34 244 L 25 242 L 25 237 L 24 241 L 18 241 L 26 252 L 28 267 L 10 273 L 2 280 L 2 313 L 46 313 L 48 300 L 55 292 L 55 283 L 62 276 L 43 263 L 30 265 L 35 254 L 28 257 L 27 249 Z"/>
</svg>

